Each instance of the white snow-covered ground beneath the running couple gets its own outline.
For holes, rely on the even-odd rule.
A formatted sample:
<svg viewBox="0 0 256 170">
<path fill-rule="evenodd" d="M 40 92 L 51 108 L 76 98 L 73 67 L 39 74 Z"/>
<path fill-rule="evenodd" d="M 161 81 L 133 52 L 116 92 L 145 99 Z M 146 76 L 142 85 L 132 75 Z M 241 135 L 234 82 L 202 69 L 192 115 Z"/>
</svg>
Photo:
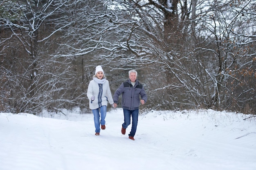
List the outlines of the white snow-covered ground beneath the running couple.
<svg viewBox="0 0 256 170">
<path fill-rule="evenodd" d="M 140 113 L 135 141 L 111 108 L 93 115 L 0 113 L 0 170 L 256 170 L 256 117 L 214 110 Z"/>
</svg>

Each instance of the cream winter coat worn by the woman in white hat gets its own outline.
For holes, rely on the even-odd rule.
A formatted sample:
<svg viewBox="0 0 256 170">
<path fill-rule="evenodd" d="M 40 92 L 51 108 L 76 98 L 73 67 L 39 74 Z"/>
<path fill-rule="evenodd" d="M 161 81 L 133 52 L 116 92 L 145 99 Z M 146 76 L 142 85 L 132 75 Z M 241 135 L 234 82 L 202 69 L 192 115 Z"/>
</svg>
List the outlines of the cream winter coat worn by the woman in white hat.
<svg viewBox="0 0 256 170">
<path fill-rule="evenodd" d="M 94 96 L 94 101 L 91 100 L 91 97 Z M 110 91 L 109 82 L 107 79 L 98 79 L 94 77 L 88 86 L 87 97 L 89 99 L 89 108 L 97 109 L 101 106 L 108 106 L 108 102 L 112 105 L 114 104 L 112 94 Z"/>
</svg>

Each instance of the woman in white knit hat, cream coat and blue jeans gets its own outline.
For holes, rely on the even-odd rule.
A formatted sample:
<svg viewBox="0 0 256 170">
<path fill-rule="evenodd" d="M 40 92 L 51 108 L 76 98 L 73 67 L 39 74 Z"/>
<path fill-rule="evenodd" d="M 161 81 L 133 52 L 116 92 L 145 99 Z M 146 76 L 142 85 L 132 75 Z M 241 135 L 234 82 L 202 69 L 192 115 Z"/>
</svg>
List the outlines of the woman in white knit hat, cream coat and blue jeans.
<svg viewBox="0 0 256 170">
<path fill-rule="evenodd" d="M 99 135 L 101 124 L 101 129 L 106 129 L 105 126 L 105 117 L 107 114 L 108 102 L 114 106 L 114 101 L 109 87 L 109 82 L 106 80 L 104 71 L 101 66 L 97 66 L 95 69 L 95 75 L 90 81 L 87 97 L 90 100 L 89 107 L 92 109 L 94 116 L 94 126 L 95 126 L 95 135 Z M 101 115 L 99 115 L 101 113 Z M 101 121 L 99 118 L 101 117 Z"/>
</svg>

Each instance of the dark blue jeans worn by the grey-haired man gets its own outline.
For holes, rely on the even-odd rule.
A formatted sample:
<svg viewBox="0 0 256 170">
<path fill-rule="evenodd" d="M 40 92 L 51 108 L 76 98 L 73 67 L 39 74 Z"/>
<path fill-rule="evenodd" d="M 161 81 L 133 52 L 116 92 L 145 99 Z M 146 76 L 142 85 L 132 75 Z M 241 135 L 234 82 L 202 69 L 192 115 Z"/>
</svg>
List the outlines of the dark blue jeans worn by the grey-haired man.
<svg viewBox="0 0 256 170">
<path fill-rule="evenodd" d="M 131 123 L 131 116 L 132 116 L 132 129 L 130 131 L 129 136 L 134 137 L 136 130 L 137 130 L 137 124 L 138 124 L 138 117 L 139 117 L 139 109 L 135 110 L 124 110 L 124 123 L 122 124 L 123 128 L 127 128 Z"/>
</svg>

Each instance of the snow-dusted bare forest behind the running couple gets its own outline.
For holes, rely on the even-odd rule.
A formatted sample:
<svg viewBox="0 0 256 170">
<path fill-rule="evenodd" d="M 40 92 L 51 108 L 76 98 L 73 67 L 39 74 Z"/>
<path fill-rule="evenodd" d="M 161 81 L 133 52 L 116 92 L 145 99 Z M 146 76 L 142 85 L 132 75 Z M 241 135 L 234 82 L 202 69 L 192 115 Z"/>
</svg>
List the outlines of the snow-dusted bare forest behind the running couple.
<svg viewBox="0 0 256 170">
<path fill-rule="evenodd" d="M 142 109 L 255 114 L 255 43 L 256 0 L 0 0 L 0 112 L 88 113 L 101 65 Z"/>
</svg>

